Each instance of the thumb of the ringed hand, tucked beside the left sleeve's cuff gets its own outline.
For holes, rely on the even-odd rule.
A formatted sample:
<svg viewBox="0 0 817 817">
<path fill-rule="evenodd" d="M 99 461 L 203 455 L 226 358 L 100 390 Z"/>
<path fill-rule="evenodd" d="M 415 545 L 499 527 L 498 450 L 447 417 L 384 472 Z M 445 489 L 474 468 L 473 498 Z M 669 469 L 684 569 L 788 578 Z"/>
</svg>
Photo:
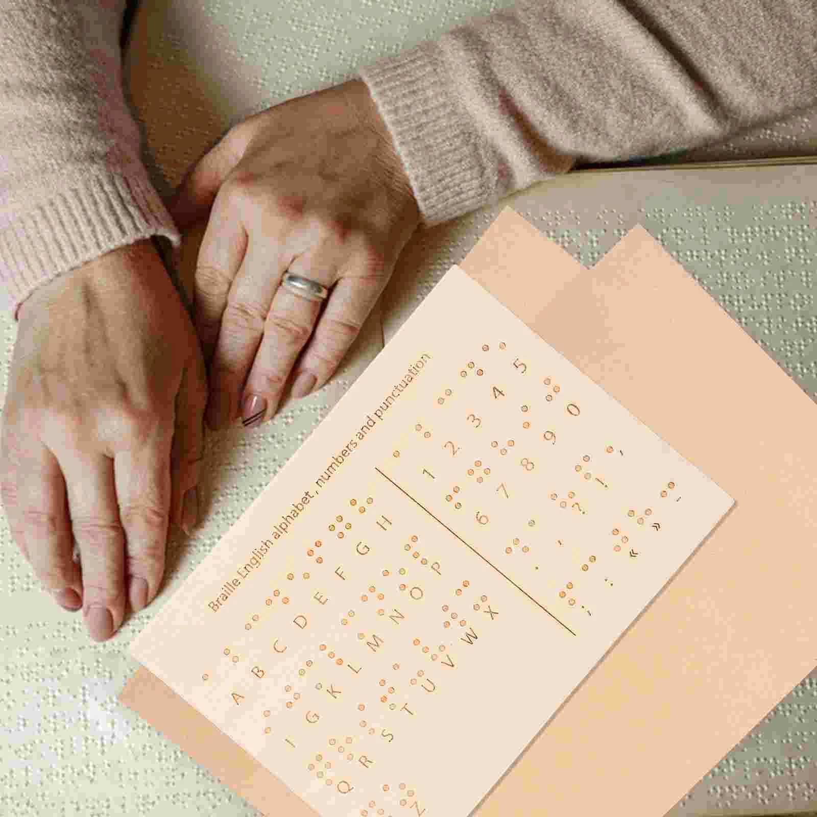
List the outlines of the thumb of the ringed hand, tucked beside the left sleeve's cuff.
<svg viewBox="0 0 817 817">
<path fill-rule="evenodd" d="M 180 231 L 209 216 L 219 188 L 239 163 L 245 147 L 243 132 L 234 125 L 190 166 L 167 203 L 167 212 Z"/>
</svg>

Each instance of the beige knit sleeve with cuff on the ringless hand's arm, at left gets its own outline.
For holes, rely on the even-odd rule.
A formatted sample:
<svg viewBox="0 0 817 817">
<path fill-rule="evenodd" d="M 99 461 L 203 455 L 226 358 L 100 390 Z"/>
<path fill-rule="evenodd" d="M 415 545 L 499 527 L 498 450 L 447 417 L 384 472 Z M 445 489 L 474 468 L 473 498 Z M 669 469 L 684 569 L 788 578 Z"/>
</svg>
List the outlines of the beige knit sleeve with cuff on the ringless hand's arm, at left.
<svg viewBox="0 0 817 817">
<path fill-rule="evenodd" d="M 0 279 L 35 288 L 125 244 L 181 234 L 122 88 L 126 0 L 0 2 Z"/>
</svg>

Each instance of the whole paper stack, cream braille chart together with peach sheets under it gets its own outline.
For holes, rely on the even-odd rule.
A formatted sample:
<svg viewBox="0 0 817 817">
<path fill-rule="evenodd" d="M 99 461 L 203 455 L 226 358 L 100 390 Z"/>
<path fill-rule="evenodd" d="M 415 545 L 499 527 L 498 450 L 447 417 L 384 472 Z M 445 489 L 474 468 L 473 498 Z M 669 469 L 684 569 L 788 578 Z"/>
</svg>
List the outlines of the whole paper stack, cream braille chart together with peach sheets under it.
<svg viewBox="0 0 817 817">
<path fill-rule="evenodd" d="M 136 636 L 122 699 L 265 813 L 466 817 L 592 813 L 576 768 L 632 781 L 609 750 L 649 757 L 708 694 L 643 809 L 605 796 L 663 814 L 759 720 L 730 628 L 767 698 L 817 660 L 769 652 L 779 609 L 742 623 L 815 534 L 806 420 L 645 230 L 590 273 L 506 210 Z"/>
</svg>

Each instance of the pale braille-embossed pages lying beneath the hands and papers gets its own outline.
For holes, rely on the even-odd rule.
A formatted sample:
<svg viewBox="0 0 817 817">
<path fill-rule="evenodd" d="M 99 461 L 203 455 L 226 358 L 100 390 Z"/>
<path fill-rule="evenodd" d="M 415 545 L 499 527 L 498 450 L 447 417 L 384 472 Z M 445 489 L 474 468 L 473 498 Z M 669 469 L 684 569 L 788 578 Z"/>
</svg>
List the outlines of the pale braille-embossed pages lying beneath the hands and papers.
<svg viewBox="0 0 817 817">
<path fill-rule="evenodd" d="M 489 0 L 144 3 L 134 20 L 126 80 L 154 184 L 169 198 L 190 163 L 246 116 L 342 82 L 359 65 L 509 5 Z M 681 158 L 805 154 L 817 154 L 817 118 L 811 112 Z M 592 180 L 577 173 L 507 203 L 588 267 L 634 220 L 641 221 L 810 395 L 817 395 L 817 237 L 808 226 L 817 166 L 797 176 L 793 193 L 763 201 L 742 192 L 736 177 L 716 195 L 717 184 L 705 193 L 703 181 L 665 173 L 672 171 L 610 173 Z M 624 185 L 630 185 L 626 196 Z M 376 309 L 342 371 L 318 394 L 256 430 L 239 425 L 208 436 L 203 520 L 190 538 L 172 535 L 161 595 L 128 618 L 111 641 L 90 641 L 78 615 L 63 612 L 38 589 L 3 521 L 0 815 L 257 814 L 117 702 L 118 690 L 136 667 L 128 645 L 382 348 L 383 335 L 391 337 L 497 213 L 498 208 L 486 208 L 415 236 L 382 299 L 382 324 Z M 7 316 L 0 321 L 4 397 L 16 330 Z M 587 778 L 592 784 L 592 769 Z M 802 812 L 815 801 L 817 672 L 671 814 Z"/>
</svg>

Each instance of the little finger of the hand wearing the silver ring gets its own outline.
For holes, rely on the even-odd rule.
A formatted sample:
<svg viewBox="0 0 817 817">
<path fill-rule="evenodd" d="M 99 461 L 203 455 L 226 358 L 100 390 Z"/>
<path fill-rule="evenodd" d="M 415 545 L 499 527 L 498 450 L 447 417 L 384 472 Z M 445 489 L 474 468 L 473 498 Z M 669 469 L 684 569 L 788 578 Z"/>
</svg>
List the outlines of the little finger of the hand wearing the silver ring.
<svg viewBox="0 0 817 817">
<path fill-rule="evenodd" d="M 289 397 L 304 397 L 332 377 L 386 288 L 392 266 L 363 239 L 359 241 L 292 372 Z"/>
</svg>

